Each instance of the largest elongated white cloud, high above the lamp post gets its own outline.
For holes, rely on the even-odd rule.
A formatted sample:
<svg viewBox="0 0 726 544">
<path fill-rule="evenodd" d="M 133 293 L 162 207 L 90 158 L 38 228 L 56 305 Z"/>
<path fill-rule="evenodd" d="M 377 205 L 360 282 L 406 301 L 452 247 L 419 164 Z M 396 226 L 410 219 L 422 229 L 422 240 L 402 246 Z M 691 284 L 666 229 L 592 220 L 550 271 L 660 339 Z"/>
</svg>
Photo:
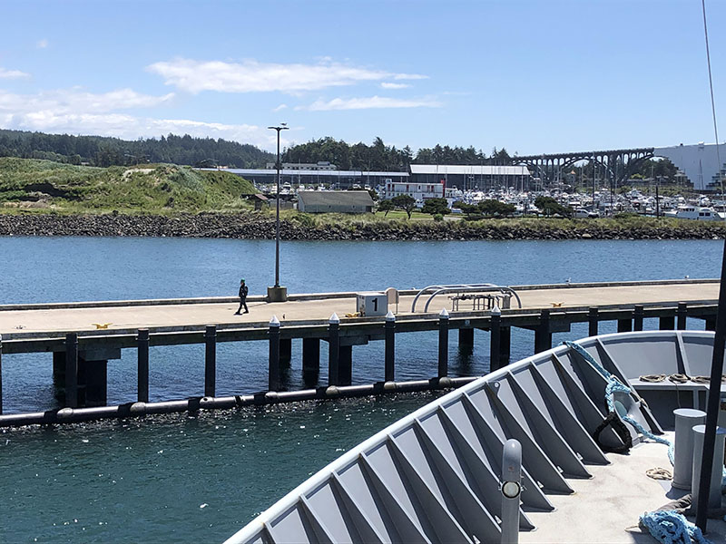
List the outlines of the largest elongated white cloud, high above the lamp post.
<svg viewBox="0 0 726 544">
<path fill-rule="evenodd" d="M 423 79 L 427 76 L 388 73 L 323 61 L 317 64 L 242 63 L 175 59 L 153 63 L 147 70 L 158 73 L 164 83 L 186 92 L 300 92 L 352 85 L 382 79 Z"/>
</svg>

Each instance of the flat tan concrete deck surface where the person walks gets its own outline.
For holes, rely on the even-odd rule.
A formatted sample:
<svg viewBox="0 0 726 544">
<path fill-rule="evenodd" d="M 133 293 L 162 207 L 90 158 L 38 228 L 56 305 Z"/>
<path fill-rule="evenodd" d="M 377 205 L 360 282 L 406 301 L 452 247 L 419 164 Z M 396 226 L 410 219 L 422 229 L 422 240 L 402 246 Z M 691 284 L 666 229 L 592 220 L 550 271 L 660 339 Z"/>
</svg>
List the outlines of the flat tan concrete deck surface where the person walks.
<svg viewBox="0 0 726 544">
<path fill-rule="evenodd" d="M 588 306 L 628 306 L 636 304 L 659 305 L 685 302 L 715 304 L 719 297 L 719 283 L 712 281 L 682 281 L 658 284 L 655 282 L 632 282 L 631 285 L 618 284 L 583 284 L 583 286 L 545 286 L 526 287 L 516 290 L 525 310 L 538 311 L 550 308 L 562 311 L 567 308 L 586 308 Z M 408 292 L 407 292 L 408 293 Z M 219 299 L 203 299 L 195 303 L 184 299 L 177 301 L 130 301 L 98 302 L 74 305 L 13 305 L 0 306 L 0 335 L 4 340 L 27 335 L 57 335 L 64 332 L 95 331 L 108 329 L 113 331 L 135 330 L 139 328 L 172 327 L 183 330 L 186 327 L 198 329 L 203 325 L 240 325 L 263 326 L 277 316 L 282 325 L 304 325 L 325 323 L 335 313 L 345 323 L 347 317 L 356 314 L 355 296 L 329 297 L 330 295 L 309 295 L 300 300 L 289 300 L 282 303 L 265 302 L 261 296 L 248 298 L 249 314 L 234 315 L 238 302 L 230 297 Z M 437 314 L 446 308 L 452 316 L 451 294 L 438 295 L 429 305 L 428 314 Z M 424 306 L 428 295 L 420 296 L 417 301 L 415 315 L 424 316 Z M 397 316 L 415 316 L 411 313 L 413 295 L 402 295 L 398 303 Z M 90 306 L 90 307 L 85 307 Z M 396 306 L 389 309 L 396 312 Z M 512 299 L 511 310 L 517 311 L 518 306 Z M 472 302 L 459 302 L 458 313 L 471 314 Z M 505 313 L 507 310 L 505 310 Z M 477 311 L 486 315 L 488 311 Z M 380 316 L 372 318 L 380 320 Z"/>
</svg>

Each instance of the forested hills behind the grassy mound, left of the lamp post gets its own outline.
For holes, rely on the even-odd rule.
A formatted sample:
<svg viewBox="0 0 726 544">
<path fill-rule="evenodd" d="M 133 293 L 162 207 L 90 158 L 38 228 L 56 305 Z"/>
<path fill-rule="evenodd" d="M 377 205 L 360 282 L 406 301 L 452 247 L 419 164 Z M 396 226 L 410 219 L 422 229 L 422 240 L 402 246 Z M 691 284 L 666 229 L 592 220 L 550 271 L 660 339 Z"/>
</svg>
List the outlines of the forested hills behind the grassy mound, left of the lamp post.
<svg viewBox="0 0 726 544">
<path fill-rule="evenodd" d="M 115 166 L 167 162 L 194 166 L 264 168 L 274 155 L 250 144 L 169 134 L 161 138 L 121 140 L 0 129 L 0 157 L 45 159 L 70 164 Z"/>
</svg>

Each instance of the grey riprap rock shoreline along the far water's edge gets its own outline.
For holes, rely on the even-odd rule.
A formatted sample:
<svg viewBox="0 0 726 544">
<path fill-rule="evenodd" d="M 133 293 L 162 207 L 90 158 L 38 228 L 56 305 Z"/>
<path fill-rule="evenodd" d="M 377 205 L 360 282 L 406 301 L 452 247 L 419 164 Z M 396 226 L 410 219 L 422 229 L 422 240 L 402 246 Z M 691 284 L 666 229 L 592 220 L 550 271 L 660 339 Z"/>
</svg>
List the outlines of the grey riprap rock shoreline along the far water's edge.
<svg viewBox="0 0 726 544">
<path fill-rule="evenodd" d="M 559 223 L 559 224 L 557 224 Z M 256 213 L 155 215 L 6 215 L 0 214 L 0 236 L 123 236 L 270 239 L 275 220 Z M 628 225 L 617 221 L 381 221 L 317 226 L 306 221 L 280 221 L 286 240 L 515 240 L 515 239 L 718 239 L 726 236 L 721 223 L 668 221 L 658 225 Z"/>
</svg>

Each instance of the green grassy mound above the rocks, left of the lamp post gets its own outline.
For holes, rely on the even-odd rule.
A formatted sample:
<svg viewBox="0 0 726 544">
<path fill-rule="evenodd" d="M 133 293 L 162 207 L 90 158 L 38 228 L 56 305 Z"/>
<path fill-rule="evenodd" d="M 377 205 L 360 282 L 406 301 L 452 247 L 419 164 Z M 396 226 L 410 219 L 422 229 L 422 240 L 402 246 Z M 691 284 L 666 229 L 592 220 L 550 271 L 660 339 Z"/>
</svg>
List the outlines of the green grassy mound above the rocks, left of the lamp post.
<svg viewBox="0 0 726 544">
<path fill-rule="evenodd" d="M 173 213 L 248 208 L 248 180 L 174 164 L 95 168 L 0 158 L 0 211 Z"/>
</svg>

